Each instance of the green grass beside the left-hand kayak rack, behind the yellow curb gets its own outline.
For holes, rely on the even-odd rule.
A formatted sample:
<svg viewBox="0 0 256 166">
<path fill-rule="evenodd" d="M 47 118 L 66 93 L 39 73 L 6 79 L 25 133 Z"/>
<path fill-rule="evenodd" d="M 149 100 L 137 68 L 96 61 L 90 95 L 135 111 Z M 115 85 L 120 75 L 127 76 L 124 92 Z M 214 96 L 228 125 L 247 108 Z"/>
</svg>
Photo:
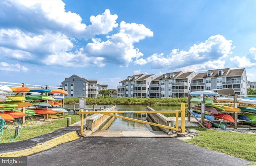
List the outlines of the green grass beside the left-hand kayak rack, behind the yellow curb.
<svg viewBox="0 0 256 166">
<path fill-rule="evenodd" d="M 66 117 L 71 117 L 72 124 L 80 121 L 79 115 L 64 115 L 59 119 L 48 119 L 48 120 L 44 120 L 37 116 L 26 117 L 26 123 L 24 123 L 20 135 L 14 140 L 14 142 L 34 138 L 36 136 L 51 133 L 60 128 L 64 128 L 67 126 Z M 17 123 L 8 122 L 7 126 L 14 137 L 15 127 L 17 127 Z M 8 141 L 10 140 L 10 138 L 11 138 L 10 133 L 5 128 L 0 140 Z M 3 143 L 3 142 L 0 142 L 0 143 Z"/>
</svg>

